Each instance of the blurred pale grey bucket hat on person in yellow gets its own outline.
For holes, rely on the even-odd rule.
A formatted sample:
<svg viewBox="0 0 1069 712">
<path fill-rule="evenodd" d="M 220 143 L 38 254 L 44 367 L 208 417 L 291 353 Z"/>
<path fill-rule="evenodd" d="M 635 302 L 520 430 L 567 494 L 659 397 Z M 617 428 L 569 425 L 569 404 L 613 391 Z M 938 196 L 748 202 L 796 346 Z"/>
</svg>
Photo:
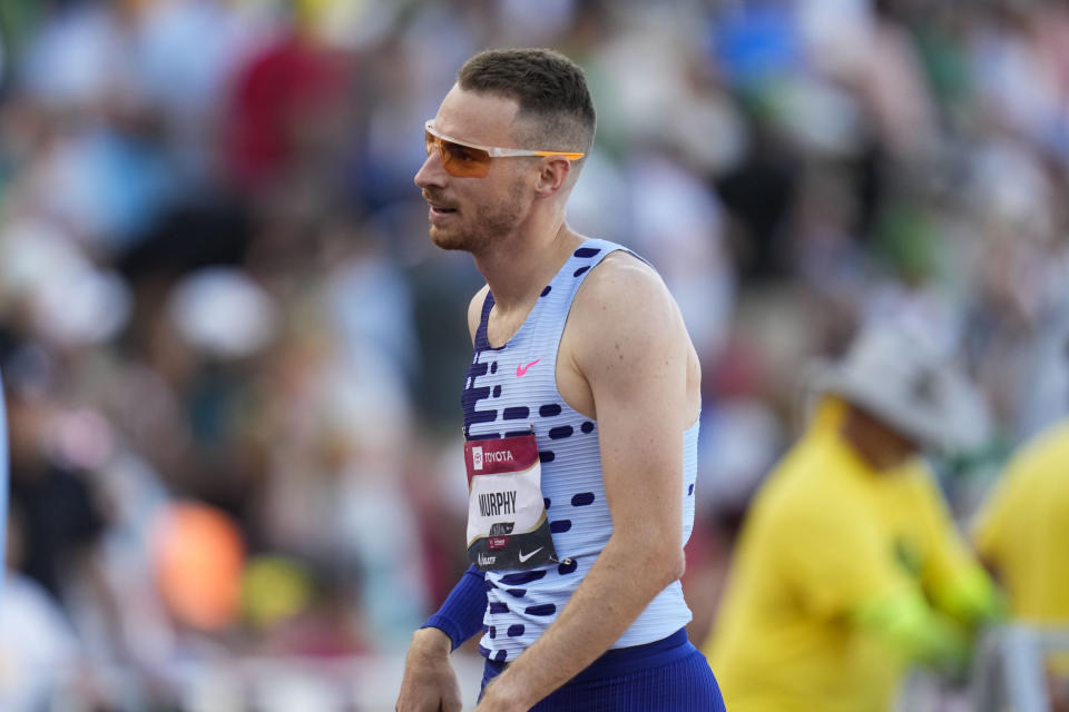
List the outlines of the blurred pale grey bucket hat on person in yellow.
<svg viewBox="0 0 1069 712">
<path fill-rule="evenodd" d="M 964 452 L 988 436 L 980 393 L 931 342 L 904 328 L 865 328 L 841 362 L 813 369 L 807 389 L 838 395 L 925 448 Z"/>
</svg>

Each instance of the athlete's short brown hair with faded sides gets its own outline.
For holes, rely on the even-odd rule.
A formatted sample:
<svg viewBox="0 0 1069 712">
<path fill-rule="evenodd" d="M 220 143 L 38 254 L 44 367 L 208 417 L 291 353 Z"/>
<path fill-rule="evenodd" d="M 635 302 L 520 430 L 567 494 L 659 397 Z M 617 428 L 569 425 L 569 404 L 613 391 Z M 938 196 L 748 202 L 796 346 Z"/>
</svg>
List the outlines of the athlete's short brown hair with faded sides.
<svg viewBox="0 0 1069 712">
<path fill-rule="evenodd" d="M 516 100 L 532 130 L 523 140 L 547 150 L 585 154 L 594 145 L 597 118 L 582 69 L 551 49 L 490 49 L 460 68 L 460 88 Z"/>
</svg>

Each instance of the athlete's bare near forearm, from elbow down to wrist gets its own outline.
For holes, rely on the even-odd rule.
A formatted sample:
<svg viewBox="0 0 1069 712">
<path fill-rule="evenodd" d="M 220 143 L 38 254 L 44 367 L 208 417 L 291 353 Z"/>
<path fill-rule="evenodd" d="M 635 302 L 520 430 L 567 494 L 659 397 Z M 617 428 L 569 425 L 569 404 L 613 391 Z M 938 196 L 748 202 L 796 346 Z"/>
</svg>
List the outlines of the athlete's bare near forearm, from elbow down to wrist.
<svg viewBox="0 0 1069 712">
<path fill-rule="evenodd" d="M 648 542 L 610 538 L 558 619 L 498 676 L 494 692 L 526 710 L 592 663 L 679 577 L 678 541 L 665 553 Z"/>
</svg>

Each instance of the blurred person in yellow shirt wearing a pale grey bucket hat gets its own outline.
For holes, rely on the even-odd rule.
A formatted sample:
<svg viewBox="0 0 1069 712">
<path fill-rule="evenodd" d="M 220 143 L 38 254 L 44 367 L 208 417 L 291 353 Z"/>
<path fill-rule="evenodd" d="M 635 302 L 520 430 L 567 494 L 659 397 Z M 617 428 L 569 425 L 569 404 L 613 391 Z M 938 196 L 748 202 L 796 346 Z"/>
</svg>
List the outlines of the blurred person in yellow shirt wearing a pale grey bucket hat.
<svg viewBox="0 0 1069 712">
<path fill-rule="evenodd" d="M 964 380 L 908 332 L 870 329 L 747 515 L 705 652 L 732 712 L 884 712 L 905 666 L 964 665 L 997 611 L 916 455 L 984 431 Z"/>
</svg>

